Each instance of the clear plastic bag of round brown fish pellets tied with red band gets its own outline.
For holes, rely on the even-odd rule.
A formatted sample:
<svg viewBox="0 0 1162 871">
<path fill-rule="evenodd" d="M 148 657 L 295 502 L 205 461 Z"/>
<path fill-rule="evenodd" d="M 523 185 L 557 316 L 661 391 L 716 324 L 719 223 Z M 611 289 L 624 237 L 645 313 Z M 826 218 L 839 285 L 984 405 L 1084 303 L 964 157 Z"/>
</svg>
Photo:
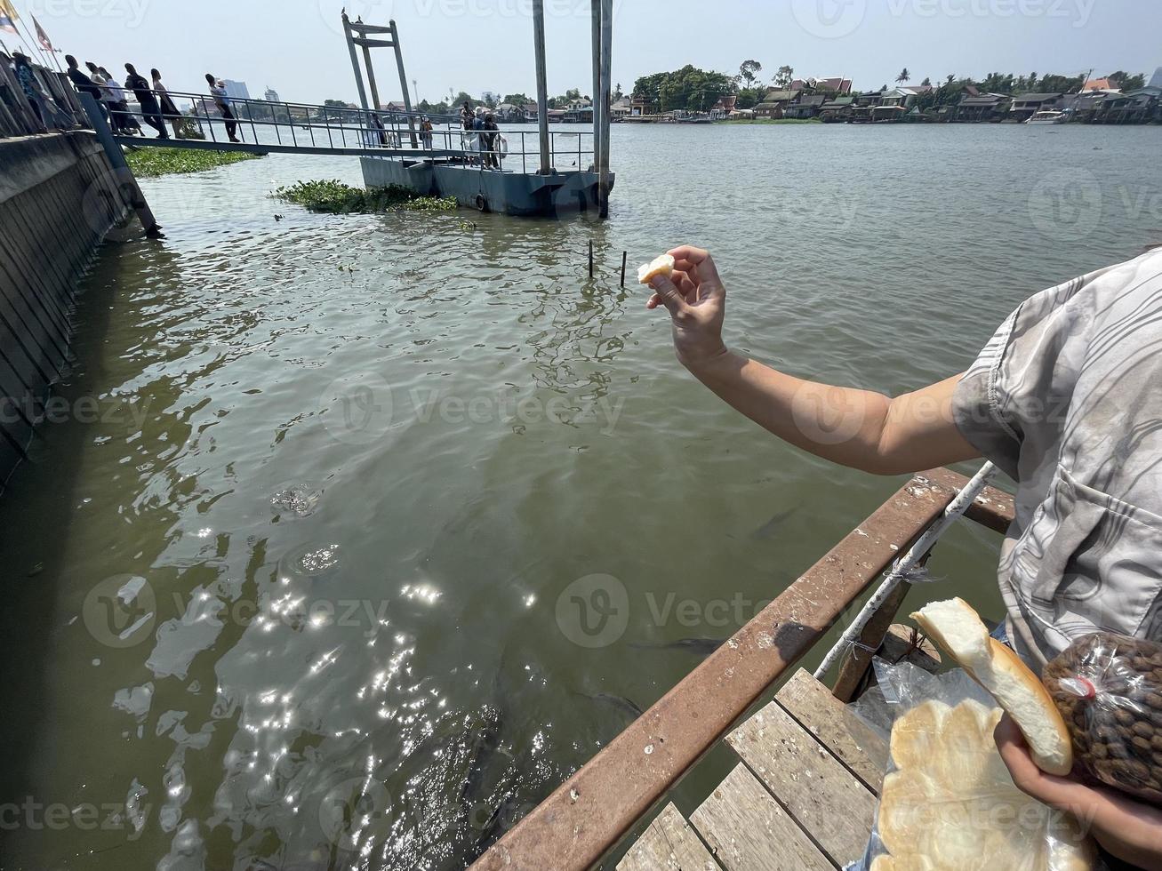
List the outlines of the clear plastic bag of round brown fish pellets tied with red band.
<svg viewBox="0 0 1162 871">
<path fill-rule="evenodd" d="M 1093 633 L 1042 675 L 1093 779 L 1162 805 L 1162 645 Z"/>
</svg>

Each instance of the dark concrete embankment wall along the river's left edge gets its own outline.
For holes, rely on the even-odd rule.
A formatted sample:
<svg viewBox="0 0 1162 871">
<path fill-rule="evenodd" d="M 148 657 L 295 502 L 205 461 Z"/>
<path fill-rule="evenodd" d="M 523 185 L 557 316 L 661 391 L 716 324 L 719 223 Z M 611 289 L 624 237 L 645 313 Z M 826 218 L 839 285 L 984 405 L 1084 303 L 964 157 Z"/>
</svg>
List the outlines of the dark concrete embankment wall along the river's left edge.
<svg viewBox="0 0 1162 871">
<path fill-rule="evenodd" d="M 125 217 L 92 132 L 0 139 L 0 485 L 67 367 L 78 279 Z"/>
</svg>

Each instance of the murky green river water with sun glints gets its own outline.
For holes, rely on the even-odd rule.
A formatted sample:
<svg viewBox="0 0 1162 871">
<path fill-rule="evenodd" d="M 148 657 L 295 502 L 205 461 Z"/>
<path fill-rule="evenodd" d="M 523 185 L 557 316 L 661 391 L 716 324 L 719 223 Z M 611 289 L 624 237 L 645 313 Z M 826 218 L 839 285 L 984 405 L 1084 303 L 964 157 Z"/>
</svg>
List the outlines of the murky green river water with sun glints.
<svg viewBox="0 0 1162 871">
<path fill-rule="evenodd" d="M 622 252 L 705 245 L 730 344 L 901 391 L 1162 242 L 1160 135 L 619 125 L 607 223 L 146 181 L 168 238 L 101 250 L 0 499 L 3 868 L 462 866 L 899 485 L 700 387 Z M 998 616 L 997 546 L 914 604 Z"/>
</svg>

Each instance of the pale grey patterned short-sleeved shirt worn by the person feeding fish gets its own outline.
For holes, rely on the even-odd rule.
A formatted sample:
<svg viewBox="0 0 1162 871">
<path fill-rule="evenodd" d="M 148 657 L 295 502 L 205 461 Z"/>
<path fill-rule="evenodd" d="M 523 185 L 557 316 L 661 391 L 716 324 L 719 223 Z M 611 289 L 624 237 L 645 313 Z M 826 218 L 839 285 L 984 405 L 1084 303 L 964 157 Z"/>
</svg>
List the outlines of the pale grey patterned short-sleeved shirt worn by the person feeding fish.
<svg viewBox="0 0 1162 871">
<path fill-rule="evenodd" d="M 999 582 L 1039 662 L 1098 629 L 1162 641 L 1162 250 L 1049 288 L 956 388 L 956 426 L 1017 481 Z"/>
</svg>

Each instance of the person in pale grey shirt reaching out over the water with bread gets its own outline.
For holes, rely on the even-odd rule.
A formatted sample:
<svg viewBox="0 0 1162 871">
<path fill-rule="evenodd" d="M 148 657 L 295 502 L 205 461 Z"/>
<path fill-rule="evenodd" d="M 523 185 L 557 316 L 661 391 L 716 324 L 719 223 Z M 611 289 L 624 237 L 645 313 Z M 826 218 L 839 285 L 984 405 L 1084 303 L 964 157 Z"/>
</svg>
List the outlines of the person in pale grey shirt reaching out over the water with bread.
<svg viewBox="0 0 1162 871">
<path fill-rule="evenodd" d="M 653 279 L 646 308 L 669 311 L 679 361 L 754 423 L 871 474 L 983 456 L 1016 481 L 1002 640 L 1034 668 L 1093 632 L 1162 641 L 1162 247 L 1030 297 L 966 372 L 895 398 L 732 352 L 713 259 L 669 253 L 674 273 Z M 1162 868 L 1162 808 L 1041 772 L 1009 717 L 996 741 L 1018 789 L 1083 821 L 1122 862 Z"/>
</svg>

